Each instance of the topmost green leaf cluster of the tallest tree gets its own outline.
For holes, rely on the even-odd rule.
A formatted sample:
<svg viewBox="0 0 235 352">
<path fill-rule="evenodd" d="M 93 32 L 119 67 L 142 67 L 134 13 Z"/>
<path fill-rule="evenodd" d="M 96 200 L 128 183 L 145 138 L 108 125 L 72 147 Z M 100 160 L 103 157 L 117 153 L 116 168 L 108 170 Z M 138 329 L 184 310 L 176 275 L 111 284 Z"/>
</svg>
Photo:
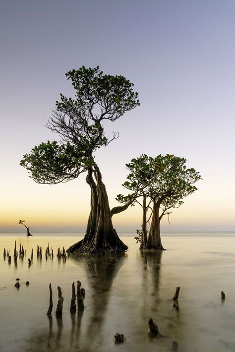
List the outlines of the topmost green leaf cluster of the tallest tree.
<svg viewBox="0 0 235 352">
<path fill-rule="evenodd" d="M 133 84 L 123 76 L 103 75 L 99 66 L 68 71 L 65 76 L 71 79 L 76 90 L 76 100 L 60 94 L 61 102 L 56 102 L 58 111 L 83 110 L 93 121 L 104 118 L 115 121 L 125 111 L 139 105 L 138 93 L 133 92 Z M 95 109 L 98 107 L 100 114 Z"/>
</svg>

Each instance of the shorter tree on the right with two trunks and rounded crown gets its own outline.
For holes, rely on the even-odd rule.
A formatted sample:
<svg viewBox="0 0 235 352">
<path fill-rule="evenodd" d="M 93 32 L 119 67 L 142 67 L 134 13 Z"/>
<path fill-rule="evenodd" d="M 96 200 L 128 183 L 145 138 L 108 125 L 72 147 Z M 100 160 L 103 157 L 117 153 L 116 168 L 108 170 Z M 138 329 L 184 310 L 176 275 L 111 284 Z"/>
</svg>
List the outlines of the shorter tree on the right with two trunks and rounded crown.
<svg viewBox="0 0 235 352">
<path fill-rule="evenodd" d="M 187 169 L 185 163 L 186 159 L 170 154 L 160 154 L 156 158 L 143 154 L 126 164 L 130 174 L 123 186 L 132 193 L 127 196 L 118 194 L 117 200 L 123 203 L 135 195 L 134 202 L 143 208 L 140 249 L 164 249 L 160 236 L 163 216 L 170 215 L 173 209 L 183 204 L 183 198 L 197 190 L 194 183 L 201 176 L 193 168 Z M 139 197 L 142 197 L 142 203 Z M 148 210 L 151 210 L 149 219 Z M 146 224 L 149 221 L 148 233 Z"/>
</svg>

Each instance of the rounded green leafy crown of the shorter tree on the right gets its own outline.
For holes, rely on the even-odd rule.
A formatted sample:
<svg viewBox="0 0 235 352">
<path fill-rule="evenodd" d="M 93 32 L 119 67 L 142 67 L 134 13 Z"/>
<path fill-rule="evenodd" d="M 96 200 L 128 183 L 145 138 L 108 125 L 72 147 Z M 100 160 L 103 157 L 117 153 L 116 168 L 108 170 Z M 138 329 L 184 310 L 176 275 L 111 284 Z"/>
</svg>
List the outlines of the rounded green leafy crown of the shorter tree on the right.
<svg viewBox="0 0 235 352">
<path fill-rule="evenodd" d="M 146 195 L 150 202 L 156 201 L 158 207 L 162 207 L 162 215 L 169 214 L 169 209 L 178 208 L 184 197 L 197 190 L 194 183 L 201 179 L 199 173 L 193 168 L 187 169 L 185 163 L 186 159 L 170 154 L 156 158 L 142 154 L 126 164 L 130 173 L 123 186 L 132 192 L 138 190 L 138 195 Z M 124 202 L 131 194 L 118 194 L 116 199 Z"/>
</svg>

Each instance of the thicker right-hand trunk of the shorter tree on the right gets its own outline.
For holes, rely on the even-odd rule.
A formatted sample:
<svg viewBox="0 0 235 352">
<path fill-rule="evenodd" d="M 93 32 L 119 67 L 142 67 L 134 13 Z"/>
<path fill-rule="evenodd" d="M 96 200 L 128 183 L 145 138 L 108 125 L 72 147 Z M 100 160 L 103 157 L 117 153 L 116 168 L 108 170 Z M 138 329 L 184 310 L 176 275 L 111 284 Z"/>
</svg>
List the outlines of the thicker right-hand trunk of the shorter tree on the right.
<svg viewBox="0 0 235 352">
<path fill-rule="evenodd" d="M 159 202 L 153 201 L 153 216 L 146 249 L 164 250 L 160 236 Z"/>
</svg>

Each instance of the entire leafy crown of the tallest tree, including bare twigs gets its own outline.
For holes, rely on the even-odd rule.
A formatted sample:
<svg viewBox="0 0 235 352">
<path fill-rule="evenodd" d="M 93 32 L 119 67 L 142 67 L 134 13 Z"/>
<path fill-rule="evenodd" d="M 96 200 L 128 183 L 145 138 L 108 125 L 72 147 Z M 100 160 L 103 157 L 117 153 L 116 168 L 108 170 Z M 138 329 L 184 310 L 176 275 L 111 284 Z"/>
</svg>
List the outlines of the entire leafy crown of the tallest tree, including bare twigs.
<svg viewBox="0 0 235 352">
<path fill-rule="evenodd" d="M 99 66 L 82 66 L 65 76 L 72 81 L 75 99 L 60 94 L 47 123 L 60 142 L 41 143 L 20 162 L 38 183 L 67 182 L 94 166 L 94 152 L 118 137 L 114 133 L 108 140 L 101 121 L 115 121 L 139 105 L 132 83 L 123 76 L 103 75 Z"/>
</svg>

